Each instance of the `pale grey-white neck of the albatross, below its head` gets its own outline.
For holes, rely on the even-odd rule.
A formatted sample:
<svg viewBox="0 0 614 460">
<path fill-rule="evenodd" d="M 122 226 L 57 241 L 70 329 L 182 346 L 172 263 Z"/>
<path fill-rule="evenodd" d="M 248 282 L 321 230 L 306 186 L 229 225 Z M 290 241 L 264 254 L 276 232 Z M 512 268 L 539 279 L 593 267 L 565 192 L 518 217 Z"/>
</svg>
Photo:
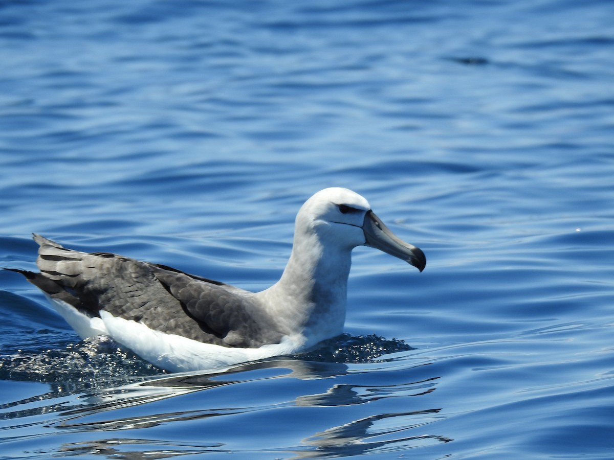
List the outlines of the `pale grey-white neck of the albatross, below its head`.
<svg viewBox="0 0 614 460">
<path fill-rule="evenodd" d="M 315 345 L 343 332 L 350 266 L 351 250 L 325 247 L 315 235 L 295 237 L 279 282 L 258 295 L 283 318 L 282 332 L 302 334 L 309 337 L 305 346 Z"/>
</svg>

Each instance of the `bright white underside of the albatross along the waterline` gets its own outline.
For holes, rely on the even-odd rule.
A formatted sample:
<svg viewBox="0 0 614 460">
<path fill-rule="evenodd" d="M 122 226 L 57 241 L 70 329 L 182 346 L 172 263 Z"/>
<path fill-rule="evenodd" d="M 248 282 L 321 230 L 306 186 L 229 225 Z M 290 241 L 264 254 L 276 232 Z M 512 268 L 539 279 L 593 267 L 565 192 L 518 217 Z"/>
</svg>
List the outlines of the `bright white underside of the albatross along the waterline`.
<svg viewBox="0 0 614 460">
<path fill-rule="evenodd" d="M 297 353 L 305 347 L 305 338 L 284 336 L 280 343 L 260 348 L 229 348 L 196 342 L 176 334 L 149 329 L 145 324 L 115 317 L 101 310 L 100 318 L 90 318 L 72 305 L 50 299 L 55 310 L 82 339 L 107 335 L 142 359 L 171 372 L 213 370 L 240 362 L 257 361 L 271 356 Z"/>
</svg>

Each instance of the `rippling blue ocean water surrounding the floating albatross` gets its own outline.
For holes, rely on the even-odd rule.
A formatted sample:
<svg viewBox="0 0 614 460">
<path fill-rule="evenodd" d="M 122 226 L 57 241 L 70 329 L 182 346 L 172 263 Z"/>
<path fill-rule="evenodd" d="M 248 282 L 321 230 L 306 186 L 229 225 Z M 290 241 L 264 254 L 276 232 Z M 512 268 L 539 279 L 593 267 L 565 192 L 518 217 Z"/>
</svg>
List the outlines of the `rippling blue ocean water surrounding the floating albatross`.
<svg viewBox="0 0 614 460">
<path fill-rule="evenodd" d="M 165 374 L 0 271 L 0 459 L 614 458 L 609 1 L 0 4 L 0 265 L 31 232 L 246 289 L 346 186 L 347 334 Z"/>
</svg>

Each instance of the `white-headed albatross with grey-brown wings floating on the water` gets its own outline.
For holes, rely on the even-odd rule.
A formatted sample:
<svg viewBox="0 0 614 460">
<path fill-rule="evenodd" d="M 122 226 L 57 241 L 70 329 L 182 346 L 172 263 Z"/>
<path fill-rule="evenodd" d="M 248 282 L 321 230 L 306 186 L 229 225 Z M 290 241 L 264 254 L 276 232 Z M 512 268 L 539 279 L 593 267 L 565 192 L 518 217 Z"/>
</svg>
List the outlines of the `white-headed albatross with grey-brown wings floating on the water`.
<svg viewBox="0 0 614 460">
<path fill-rule="evenodd" d="M 252 293 L 112 253 L 84 253 L 34 234 L 40 288 L 86 339 L 106 335 L 171 372 L 219 369 L 308 350 L 343 332 L 352 249 L 377 248 L 418 270 L 426 257 L 395 236 L 368 201 L 326 188 L 298 211 L 278 282 Z"/>
</svg>

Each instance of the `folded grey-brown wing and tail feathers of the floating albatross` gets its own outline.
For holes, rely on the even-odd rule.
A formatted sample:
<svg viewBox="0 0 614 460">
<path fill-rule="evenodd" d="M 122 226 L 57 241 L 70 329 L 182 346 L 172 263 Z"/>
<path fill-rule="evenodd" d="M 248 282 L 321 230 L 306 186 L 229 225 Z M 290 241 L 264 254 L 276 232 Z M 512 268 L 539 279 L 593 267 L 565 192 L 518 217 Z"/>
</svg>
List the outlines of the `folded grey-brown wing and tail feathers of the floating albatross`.
<svg viewBox="0 0 614 460">
<path fill-rule="evenodd" d="M 34 239 L 41 245 L 41 274 L 28 280 L 90 315 L 106 310 L 151 329 L 227 347 L 259 347 L 281 338 L 262 330 L 264 318 L 239 289 L 166 266 Z"/>
</svg>

